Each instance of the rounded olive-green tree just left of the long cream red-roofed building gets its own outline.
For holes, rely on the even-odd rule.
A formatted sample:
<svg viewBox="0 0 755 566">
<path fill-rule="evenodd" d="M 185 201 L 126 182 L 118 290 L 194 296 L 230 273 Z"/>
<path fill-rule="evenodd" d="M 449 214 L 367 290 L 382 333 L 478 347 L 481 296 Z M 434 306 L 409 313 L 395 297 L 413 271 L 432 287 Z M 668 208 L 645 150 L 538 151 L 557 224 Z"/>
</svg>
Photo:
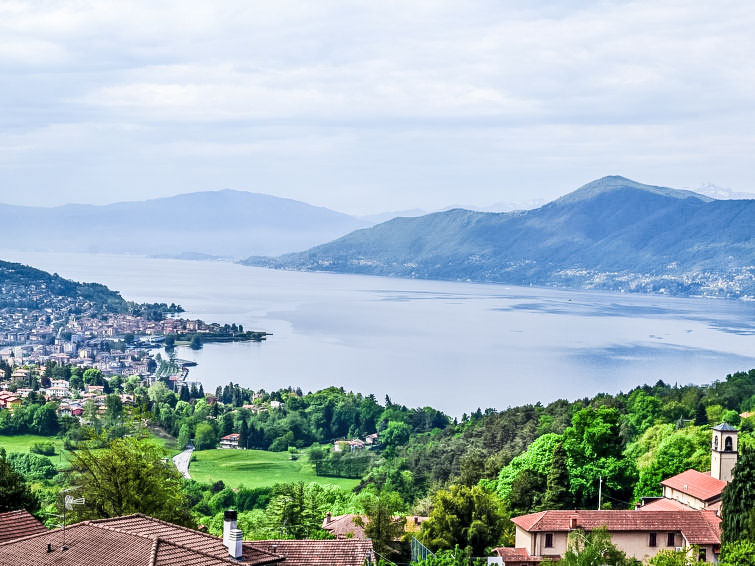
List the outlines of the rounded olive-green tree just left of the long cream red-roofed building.
<svg viewBox="0 0 755 566">
<path fill-rule="evenodd" d="M 433 549 L 450 550 L 459 545 L 483 556 L 501 540 L 505 521 L 495 494 L 478 485 L 452 485 L 433 497 L 433 510 L 422 524 L 420 538 Z"/>
</svg>

